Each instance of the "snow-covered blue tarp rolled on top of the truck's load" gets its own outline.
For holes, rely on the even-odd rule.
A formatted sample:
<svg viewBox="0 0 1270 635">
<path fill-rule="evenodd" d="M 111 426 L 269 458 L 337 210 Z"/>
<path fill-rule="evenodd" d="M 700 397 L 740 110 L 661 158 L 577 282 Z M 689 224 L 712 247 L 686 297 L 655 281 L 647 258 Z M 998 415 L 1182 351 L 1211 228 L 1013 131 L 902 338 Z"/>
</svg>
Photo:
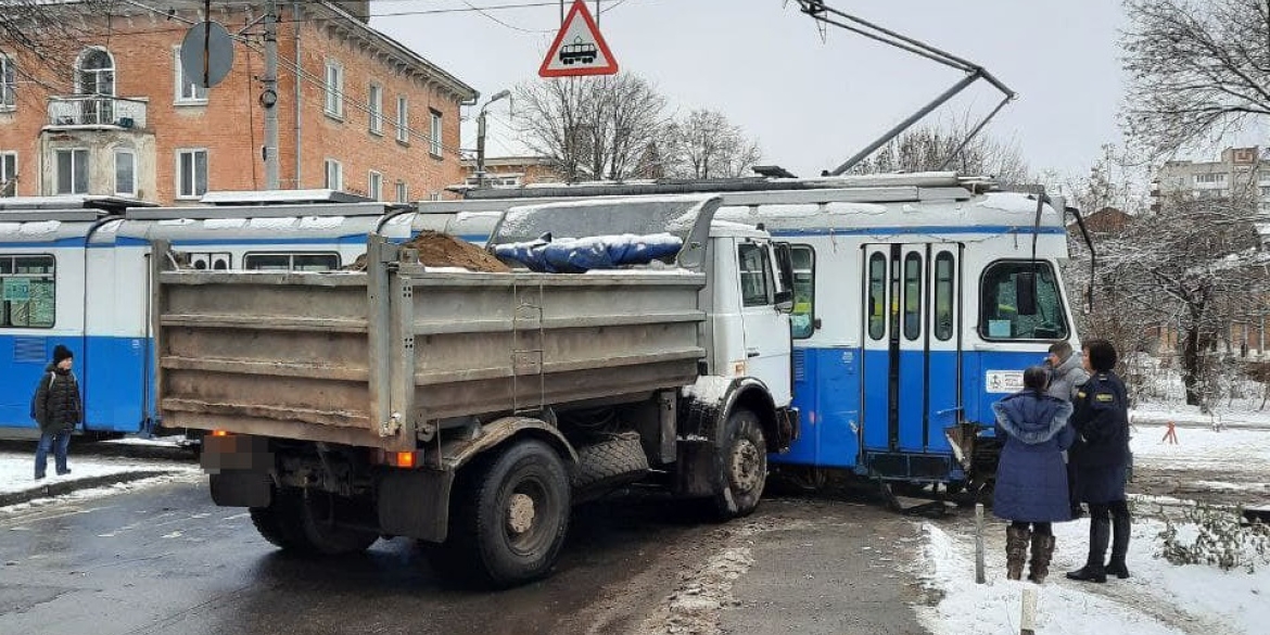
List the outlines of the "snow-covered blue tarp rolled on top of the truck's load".
<svg viewBox="0 0 1270 635">
<path fill-rule="evenodd" d="M 494 255 L 546 273 L 583 273 L 626 264 L 648 264 L 679 253 L 683 241 L 671 234 L 591 236 L 552 240 L 550 234 L 530 243 L 494 245 Z"/>
</svg>

